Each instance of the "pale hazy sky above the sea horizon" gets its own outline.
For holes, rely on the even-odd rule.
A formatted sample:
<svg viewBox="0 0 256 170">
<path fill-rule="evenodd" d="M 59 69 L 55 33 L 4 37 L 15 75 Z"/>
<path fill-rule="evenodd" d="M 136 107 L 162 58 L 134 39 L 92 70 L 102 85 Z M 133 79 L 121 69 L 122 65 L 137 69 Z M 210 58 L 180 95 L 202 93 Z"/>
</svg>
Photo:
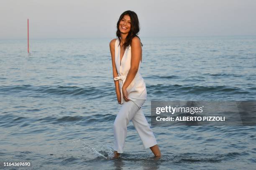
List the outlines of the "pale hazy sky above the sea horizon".
<svg viewBox="0 0 256 170">
<path fill-rule="evenodd" d="M 256 35 L 256 0 L 0 0 L 0 39 L 115 37 L 125 10 L 143 37 Z"/>
</svg>

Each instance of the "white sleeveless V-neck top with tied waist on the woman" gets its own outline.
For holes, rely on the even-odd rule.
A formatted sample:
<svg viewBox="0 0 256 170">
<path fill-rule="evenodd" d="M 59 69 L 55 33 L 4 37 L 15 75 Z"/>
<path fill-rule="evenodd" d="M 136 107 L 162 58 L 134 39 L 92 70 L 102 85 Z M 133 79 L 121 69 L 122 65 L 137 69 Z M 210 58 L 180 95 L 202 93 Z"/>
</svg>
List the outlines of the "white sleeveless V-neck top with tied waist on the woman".
<svg viewBox="0 0 256 170">
<path fill-rule="evenodd" d="M 119 81 L 119 88 L 121 92 L 121 104 L 123 104 L 125 100 L 123 98 L 122 87 L 131 67 L 131 45 L 125 49 L 123 58 L 120 61 L 120 45 L 119 45 L 118 38 L 115 41 L 115 67 L 118 72 L 118 77 L 115 77 L 114 80 Z M 141 76 L 140 68 L 141 68 L 141 60 L 139 63 L 138 71 L 134 79 L 126 89 L 128 92 L 128 98 L 132 101 L 133 99 L 141 99 L 141 100 L 147 99 L 146 84 Z"/>
</svg>

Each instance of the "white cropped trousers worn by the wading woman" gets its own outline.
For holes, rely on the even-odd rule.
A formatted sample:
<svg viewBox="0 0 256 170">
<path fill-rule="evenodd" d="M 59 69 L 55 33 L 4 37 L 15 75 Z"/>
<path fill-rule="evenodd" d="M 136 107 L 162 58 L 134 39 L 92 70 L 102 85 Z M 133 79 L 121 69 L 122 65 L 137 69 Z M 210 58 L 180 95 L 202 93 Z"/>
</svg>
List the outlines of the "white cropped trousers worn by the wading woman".
<svg viewBox="0 0 256 170">
<path fill-rule="evenodd" d="M 131 99 L 131 98 L 130 98 Z M 131 99 L 124 101 L 114 122 L 114 150 L 123 153 L 125 138 L 127 136 L 127 125 L 132 120 L 135 129 L 140 136 L 144 148 L 156 145 L 156 138 L 148 124 L 141 106 L 146 100 Z"/>
</svg>

